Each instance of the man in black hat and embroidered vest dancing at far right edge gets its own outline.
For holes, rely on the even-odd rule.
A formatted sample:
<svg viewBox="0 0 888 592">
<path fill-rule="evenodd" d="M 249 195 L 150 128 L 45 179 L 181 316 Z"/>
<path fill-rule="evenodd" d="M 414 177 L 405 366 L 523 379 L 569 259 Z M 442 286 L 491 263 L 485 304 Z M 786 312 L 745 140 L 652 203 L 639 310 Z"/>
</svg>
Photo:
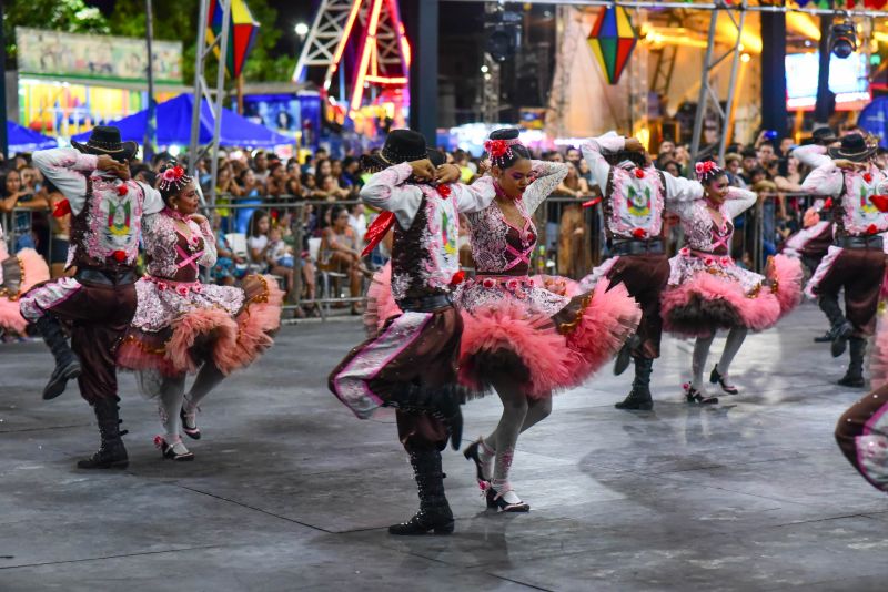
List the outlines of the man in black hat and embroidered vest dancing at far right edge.
<svg viewBox="0 0 888 592">
<path fill-rule="evenodd" d="M 862 387 L 867 337 L 876 326 L 879 288 L 885 274 L 880 233 L 888 231 L 888 204 L 877 187 L 886 174 L 874 163 L 875 146 L 860 134 L 841 139 L 829 149 L 829 162 L 818 166 L 801 184 L 806 192 L 834 200 L 835 243 L 817 266 L 806 293 L 817 297 L 831 325 L 833 357 L 845 353 L 850 341 L 850 361 L 838 381 Z M 845 288 L 845 314 L 838 292 Z"/>
</svg>

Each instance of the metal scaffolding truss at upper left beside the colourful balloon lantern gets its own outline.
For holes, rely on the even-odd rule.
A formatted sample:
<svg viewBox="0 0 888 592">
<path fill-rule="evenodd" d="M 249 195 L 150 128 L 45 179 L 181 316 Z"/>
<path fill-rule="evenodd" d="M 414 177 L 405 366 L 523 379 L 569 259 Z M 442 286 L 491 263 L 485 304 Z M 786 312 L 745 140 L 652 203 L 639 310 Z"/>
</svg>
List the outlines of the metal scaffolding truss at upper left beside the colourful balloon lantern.
<svg viewBox="0 0 888 592">
<path fill-rule="evenodd" d="M 225 55 L 229 49 L 229 29 L 231 23 L 231 0 L 219 0 L 222 8 L 222 31 L 212 43 L 206 43 L 206 19 L 210 14 L 210 0 L 201 0 L 200 19 L 198 20 L 198 52 L 194 59 L 194 105 L 191 112 L 191 145 L 189 150 L 188 171 L 194 175 L 198 161 L 210 153 L 210 204 L 215 204 L 215 177 L 219 173 L 219 134 L 222 125 L 222 99 L 225 91 Z M 210 96 L 206 83 L 206 62 L 215 48 L 219 48 L 219 70 L 215 81 L 215 100 Z M 203 100 L 213 116 L 213 137 L 210 144 L 200 150 L 201 104 Z"/>
</svg>

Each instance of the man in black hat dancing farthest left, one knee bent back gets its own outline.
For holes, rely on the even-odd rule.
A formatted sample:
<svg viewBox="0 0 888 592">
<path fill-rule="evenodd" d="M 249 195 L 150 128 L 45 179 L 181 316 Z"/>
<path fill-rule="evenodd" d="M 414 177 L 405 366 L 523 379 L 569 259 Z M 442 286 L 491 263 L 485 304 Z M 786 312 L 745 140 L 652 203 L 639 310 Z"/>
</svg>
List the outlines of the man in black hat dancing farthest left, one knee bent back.
<svg viewBox="0 0 888 592">
<path fill-rule="evenodd" d="M 33 163 L 64 194 L 63 208 L 73 214 L 68 266 L 77 274 L 32 288 L 19 306 L 56 358 L 43 398 L 58 397 L 77 378 L 95 412 L 101 446 L 78 468 L 122 469 L 129 459 L 120 438 L 114 350 L 135 314 L 141 218 L 160 212 L 163 201 L 154 188 L 130 180 L 127 161 L 138 146 L 121 142 L 117 127 L 97 126 L 85 144 L 71 144 L 36 152 Z M 72 324 L 71 347 L 61 321 Z"/>
</svg>

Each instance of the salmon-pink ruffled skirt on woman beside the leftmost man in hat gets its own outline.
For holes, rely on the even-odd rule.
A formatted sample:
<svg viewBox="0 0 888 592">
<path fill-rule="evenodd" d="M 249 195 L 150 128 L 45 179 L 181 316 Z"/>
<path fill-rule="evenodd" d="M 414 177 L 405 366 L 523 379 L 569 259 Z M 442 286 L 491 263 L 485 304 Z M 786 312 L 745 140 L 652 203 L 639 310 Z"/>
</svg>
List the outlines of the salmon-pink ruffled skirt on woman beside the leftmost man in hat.
<svg viewBox="0 0 888 592">
<path fill-rule="evenodd" d="M 212 360 L 228 375 L 273 344 L 283 292 L 271 276 L 248 276 L 242 287 L 205 285 L 200 293 L 172 286 L 137 283 L 137 314 L 118 349 L 121 368 L 174 376 Z M 169 316 L 171 310 L 178 313 Z"/>
</svg>

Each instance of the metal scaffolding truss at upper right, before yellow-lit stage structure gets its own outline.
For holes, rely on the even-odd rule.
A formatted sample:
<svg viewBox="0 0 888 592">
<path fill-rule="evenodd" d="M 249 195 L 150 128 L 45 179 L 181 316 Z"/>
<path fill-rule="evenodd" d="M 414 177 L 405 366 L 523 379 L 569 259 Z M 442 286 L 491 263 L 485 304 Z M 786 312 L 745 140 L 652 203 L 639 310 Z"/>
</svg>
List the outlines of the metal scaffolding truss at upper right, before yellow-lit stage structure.
<svg viewBox="0 0 888 592">
<path fill-rule="evenodd" d="M 706 44 L 706 53 L 703 58 L 703 74 L 700 80 L 700 92 L 697 99 L 697 114 L 694 118 L 694 136 L 690 141 L 690 160 L 696 162 L 700 156 L 715 157 L 718 156 L 719 162 L 725 156 L 725 146 L 727 145 L 728 132 L 730 131 L 730 108 L 734 103 L 734 94 L 737 86 L 737 70 L 740 64 L 740 33 L 743 32 L 743 24 L 746 20 L 746 1 L 738 7 L 728 7 L 722 4 L 720 10 L 715 10 L 709 20 L 709 41 Z M 718 23 L 718 16 L 726 14 L 734 25 L 733 32 L 736 32 L 734 43 L 727 52 L 720 57 L 715 57 L 715 37 Z M 715 84 L 713 73 L 715 70 L 728 58 L 731 58 L 730 64 L 730 82 L 728 83 L 728 96 L 725 109 L 722 109 L 722 103 L 718 99 L 718 89 Z M 719 127 L 719 135 L 715 142 L 700 145 L 703 140 L 703 125 L 709 110 L 714 112 L 717 118 Z M 717 150 L 717 152 L 716 152 Z"/>
</svg>

